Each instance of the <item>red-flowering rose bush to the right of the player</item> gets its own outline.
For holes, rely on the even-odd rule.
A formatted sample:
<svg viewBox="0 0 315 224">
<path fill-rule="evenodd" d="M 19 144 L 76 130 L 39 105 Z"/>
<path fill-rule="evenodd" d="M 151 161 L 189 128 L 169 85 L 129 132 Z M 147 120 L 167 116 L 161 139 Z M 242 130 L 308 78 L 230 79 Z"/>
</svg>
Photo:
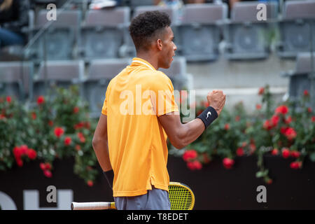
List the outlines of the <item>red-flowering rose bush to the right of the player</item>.
<svg viewBox="0 0 315 224">
<path fill-rule="evenodd" d="M 214 157 L 221 158 L 226 169 L 232 169 L 237 156 L 255 155 L 256 176 L 265 183 L 272 183 L 263 162 L 266 153 L 293 158 L 291 169 L 301 169 L 306 156 L 315 162 L 315 116 L 309 92 L 305 90 L 299 102 L 287 100 L 281 105 L 274 104 L 269 86 L 260 87 L 258 94 L 262 102 L 255 105 L 253 114 L 247 114 L 241 103 L 235 106 L 235 111 L 223 109 L 220 118 L 186 148 L 186 153 L 194 155 L 194 161 L 201 165 Z M 196 106 L 196 117 L 206 106 L 207 102 Z M 188 162 L 189 169 L 195 169 L 186 160 L 189 157 L 186 153 L 183 160 Z M 204 160 L 205 155 L 209 159 Z"/>
</svg>

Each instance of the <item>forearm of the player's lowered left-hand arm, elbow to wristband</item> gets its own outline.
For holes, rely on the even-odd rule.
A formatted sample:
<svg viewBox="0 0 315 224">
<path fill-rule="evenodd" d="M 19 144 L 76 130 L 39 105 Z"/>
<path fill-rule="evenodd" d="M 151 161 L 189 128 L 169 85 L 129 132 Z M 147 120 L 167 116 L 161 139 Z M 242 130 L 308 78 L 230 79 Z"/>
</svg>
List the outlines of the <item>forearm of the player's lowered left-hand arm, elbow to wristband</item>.
<svg viewBox="0 0 315 224">
<path fill-rule="evenodd" d="M 107 172 L 111 169 L 111 161 L 109 160 L 109 146 L 107 139 L 93 139 L 93 148 L 99 165 L 102 167 L 104 172 Z"/>
</svg>

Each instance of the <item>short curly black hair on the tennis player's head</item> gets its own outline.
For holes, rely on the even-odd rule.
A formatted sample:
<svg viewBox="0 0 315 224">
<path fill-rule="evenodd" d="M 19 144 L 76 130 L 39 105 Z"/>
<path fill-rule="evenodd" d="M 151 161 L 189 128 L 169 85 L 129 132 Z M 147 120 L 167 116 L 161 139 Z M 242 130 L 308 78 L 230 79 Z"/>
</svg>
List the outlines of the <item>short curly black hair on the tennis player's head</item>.
<svg viewBox="0 0 315 224">
<path fill-rule="evenodd" d="M 148 11 L 135 17 L 129 27 L 130 36 L 136 50 L 147 49 L 154 38 L 162 34 L 164 28 L 171 25 L 167 13 Z"/>
</svg>

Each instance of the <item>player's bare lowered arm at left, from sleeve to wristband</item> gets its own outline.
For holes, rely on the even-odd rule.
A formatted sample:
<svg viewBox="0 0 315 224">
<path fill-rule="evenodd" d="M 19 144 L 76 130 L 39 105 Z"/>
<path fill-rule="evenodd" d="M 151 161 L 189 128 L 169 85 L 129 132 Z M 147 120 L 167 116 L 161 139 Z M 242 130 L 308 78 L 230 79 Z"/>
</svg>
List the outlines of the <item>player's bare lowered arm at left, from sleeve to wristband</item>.
<svg viewBox="0 0 315 224">
<path fill-rule="evenodd" d="M 97 123 L 94 137 L 92 140 L 92 146 L 99 161 L 99 165 L 102 167 L 104 172 L 111 169 L 111 162 L 109 160 L 109 145 L 107 137 L 107 116 L 101 114 L 99 117 L 99 123 Z"/>
</svg>

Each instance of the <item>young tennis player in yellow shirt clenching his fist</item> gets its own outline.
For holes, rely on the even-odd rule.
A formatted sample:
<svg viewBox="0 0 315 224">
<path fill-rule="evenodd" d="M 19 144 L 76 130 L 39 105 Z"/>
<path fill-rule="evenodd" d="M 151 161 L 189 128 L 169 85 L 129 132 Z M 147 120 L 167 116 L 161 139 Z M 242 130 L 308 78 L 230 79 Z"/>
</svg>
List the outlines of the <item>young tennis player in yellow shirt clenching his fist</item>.
<svg viewBox="0 0 315 224">
<path fill-rule="evenodd" d="M 176 148 L 187 146 L 225 104 L 225 94 L 214 90 L 207 95 L 209 108 L 190 123 L 181 123 L 172 82 L 157 71 L 168 69 L 175 55 L 170 25 L 168 15 L 158 11 L 132 20 L 130 35 L 137 57 L 106 90 L 92 144 L 113 184 L 117 209 L 170 209 L 167 137 Z"/>
</svg>

